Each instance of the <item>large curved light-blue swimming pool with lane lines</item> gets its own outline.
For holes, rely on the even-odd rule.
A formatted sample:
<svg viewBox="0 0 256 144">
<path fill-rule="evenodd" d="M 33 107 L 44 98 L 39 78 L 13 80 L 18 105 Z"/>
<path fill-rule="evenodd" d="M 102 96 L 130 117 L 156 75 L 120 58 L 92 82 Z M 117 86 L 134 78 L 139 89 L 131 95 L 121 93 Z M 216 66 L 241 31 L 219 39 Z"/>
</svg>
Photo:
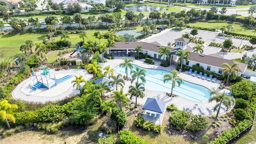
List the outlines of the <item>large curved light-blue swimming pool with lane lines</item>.
<svg viewBox="0 0 256 144">
<path fill-rule="evenodd" d="M 133 70 L 135 70 L 136 67 L 139 67 L 139 66 L 133 65 Z M 142 69 L 141 67 L 139 68 Z M 165 70 L 153 70 L 153 69 L 147 69 L 147 68 L 143 68 L 143 69 L 146 70 L 146 77 L 145 77 L 146 89 L 159 91 L 159 92 L 169 92 L 169 93 L 171 92 L 172 81 L 169 80 L 168 82 L 165 82 L 165 83 L 163 82 L 164 74 L 167 74 L 167 73 L 172 74 L 171 72 L 167 72 Z M 122 74 L 126 76 L 125 68 L 117 66 L 115 70 L 118 74 Z M 128 76 L 131 77 L 130 69 L 128 69 Z M 205 101 L 208 101 L 209 98 L 211 97 L 210 90 L 208 90 L 206 87 L 200 86 L 198 84 L 193 84 L 185 80 L 183 80 L 180 86 L 176 84 L 176 86 L 173 88 L 172 93 L 195 102 L 205 102 Z"/>
</svg>

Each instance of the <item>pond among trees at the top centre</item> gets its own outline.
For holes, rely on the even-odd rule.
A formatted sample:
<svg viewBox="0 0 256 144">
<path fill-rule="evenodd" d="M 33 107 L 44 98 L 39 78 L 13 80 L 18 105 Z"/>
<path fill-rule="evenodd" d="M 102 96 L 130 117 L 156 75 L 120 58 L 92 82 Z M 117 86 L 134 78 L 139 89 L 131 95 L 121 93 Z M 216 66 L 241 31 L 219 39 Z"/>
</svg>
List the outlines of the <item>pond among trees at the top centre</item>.
<svg viewBox="0 0 256 144">
<path fill-rule="evenodd" d="M 141 5 L 141 6 L 126 6 L 124 8 L 125 11 L 132 10 L 134 12 L 147 12 L 147 11 L 153 11 L 153 10 L 169 10 L 167 8 L 160 8 L 157 6 L 149 6 L 149 5 Z"/>
</svg>

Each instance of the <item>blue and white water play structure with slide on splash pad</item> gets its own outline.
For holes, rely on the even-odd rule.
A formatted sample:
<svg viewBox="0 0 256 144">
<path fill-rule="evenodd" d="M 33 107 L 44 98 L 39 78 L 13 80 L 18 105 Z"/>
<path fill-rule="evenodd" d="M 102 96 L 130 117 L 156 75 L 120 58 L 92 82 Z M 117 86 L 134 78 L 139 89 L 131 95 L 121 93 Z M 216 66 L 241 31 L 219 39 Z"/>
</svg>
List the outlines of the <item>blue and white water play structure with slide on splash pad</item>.
<svg viewBox="0 0 256 144">
<path fill-rule="evenodd" d="M 56 79 L 55 74 L 52 76 L 50 75 L 50 68 L 44 69 L 41 75 L 36 75 L 36 73 L 33 71 L 32 75 L 36 76 L 32 80 L 33 85 L 29 84 L 29 87 L 32 90 L 38 90 L 40 88 L 50 89 L 54 86 L 57 86 L 57 84 L 60 84 L 61 82 L 74 77 L 74 74 L 68 74 L 67 76 L 64 76 L 60 79 Z"/>
</svg>

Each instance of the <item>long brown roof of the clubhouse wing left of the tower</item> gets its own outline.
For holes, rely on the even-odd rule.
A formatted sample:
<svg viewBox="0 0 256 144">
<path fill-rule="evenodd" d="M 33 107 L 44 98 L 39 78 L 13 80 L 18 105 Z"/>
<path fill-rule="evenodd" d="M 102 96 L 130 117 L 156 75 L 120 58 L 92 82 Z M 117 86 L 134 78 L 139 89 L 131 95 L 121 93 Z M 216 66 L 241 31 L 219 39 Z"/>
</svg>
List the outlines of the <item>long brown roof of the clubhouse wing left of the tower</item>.
<svg viewBox="0 0 256 144">
<path fill-rule="evenodd" d="M 142 46 L 143 50 L 148 50 L 152 52 L 158 52 L 160 45 L 147 43 L 147 42 L 116 42 L 116 48 L 111 48 L 111 50 L 120 50 L 120 49 L 135 49 L 136 46 Z M 169 48 L 172 50 L 173 48 Z"/>
</svg>

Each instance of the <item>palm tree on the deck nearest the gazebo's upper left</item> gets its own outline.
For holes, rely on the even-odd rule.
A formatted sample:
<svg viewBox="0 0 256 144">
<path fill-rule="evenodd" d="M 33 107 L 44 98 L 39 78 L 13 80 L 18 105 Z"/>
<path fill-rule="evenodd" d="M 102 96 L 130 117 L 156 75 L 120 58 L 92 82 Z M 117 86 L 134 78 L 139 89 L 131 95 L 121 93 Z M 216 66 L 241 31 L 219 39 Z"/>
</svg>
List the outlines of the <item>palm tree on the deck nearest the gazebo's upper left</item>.
<svg viewBox="0 0 256 144">
<path fill-rule="evenodd" d="M 129 86 L 128 92 L 131 93 L 130 99 L 132 99 L 132 96 L 135 96 L 135 106 L 134 108 L 137 108 L 137 97 L 140 96 L 143 98 L 143 92 L 145 91 L 144 84 L 142 82 L 135 82 L 135 86 Z"/>
</svg>

